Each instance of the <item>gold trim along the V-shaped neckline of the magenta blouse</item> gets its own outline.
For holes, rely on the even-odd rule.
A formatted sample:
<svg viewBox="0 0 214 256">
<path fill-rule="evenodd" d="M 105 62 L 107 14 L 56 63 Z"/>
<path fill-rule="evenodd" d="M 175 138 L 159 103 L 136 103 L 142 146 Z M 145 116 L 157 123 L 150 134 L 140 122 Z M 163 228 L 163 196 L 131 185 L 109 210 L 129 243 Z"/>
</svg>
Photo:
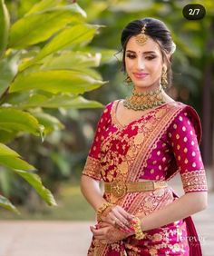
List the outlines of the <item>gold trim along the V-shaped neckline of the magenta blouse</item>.
<svg viewBox="0 0 214 256">
<path fill-rule="evenodd" d="M 130 126 L 131 123 L 135 123 L 135 122 L 139 122 L 141 121 L 141 118 L 147 116 L 148 114 L 152 113 L 153 111 L 155 111 L 156 109 L 168 104 L 168 103 L 163 103 L 157 107 L 154 107 L 152 108 L 150 111 L 148 111 L 147 113 L 142 113 L 141 116 L 135 120 L 132 120 L 130 123 L 126 123 L 126 124 L 122 124 L 118 118 L 117 118 L 117 115 L 116 115 L 116 108 L 119 104 L 119 102 L 122 101 L 122 99 L 119 99 L 119 100 L 116 100 L 112 103 L 112 109 L 111 109 L 111 116 L 112 116 L 112 123 L 119 129 L 125 129 L 126 127 Z M 169 102 L 171 103 L 171 102 Z"/>
</svg>

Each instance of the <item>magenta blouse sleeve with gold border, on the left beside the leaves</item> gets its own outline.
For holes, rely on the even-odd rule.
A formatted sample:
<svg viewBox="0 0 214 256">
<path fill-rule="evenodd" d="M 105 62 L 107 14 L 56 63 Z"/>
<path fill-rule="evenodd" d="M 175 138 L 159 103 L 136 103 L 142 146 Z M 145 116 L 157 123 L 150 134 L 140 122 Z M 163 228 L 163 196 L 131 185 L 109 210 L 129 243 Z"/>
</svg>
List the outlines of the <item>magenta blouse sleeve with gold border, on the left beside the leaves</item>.
<svg viewBox="0 0 214 256">
<path fill-rule="evenodd" d="M 108 122 L 109 122 L 109 114 L 110 114 L 110 105 L 111 103 L 105 106 L 100 119 L 97 123 L 96 131 L 93 137 L 92 146 L 90 148 L 88 157 L 86 159 L 84 168 L 83 168 L 83 175 L 87 175 L 92 177 L 95 180 L 101 181 L 101 144 L 102 144 L 102 133 L 105 131 Z"/>
</svg>

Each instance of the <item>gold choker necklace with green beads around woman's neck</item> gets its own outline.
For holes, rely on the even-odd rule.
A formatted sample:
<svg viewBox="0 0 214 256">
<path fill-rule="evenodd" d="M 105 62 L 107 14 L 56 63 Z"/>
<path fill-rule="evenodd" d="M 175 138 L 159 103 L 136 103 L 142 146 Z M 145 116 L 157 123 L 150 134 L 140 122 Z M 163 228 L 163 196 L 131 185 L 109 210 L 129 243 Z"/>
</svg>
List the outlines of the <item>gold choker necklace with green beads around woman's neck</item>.
<svg viewBox="0 0 214 256">
<path fill-rule="evenodd" d="M 132 110 L 147 110 L 156 106 L 159 106 L 163 103 L 166 103 L 163 100 L 161 94 L 162 87 L 159 86 L 158 89 L 145 93 L 137 93 L 134 89 L 131 93 L 131 96 L 126 97 L 123 102 L 123 105 L 128 109 Z"/>
</svg>

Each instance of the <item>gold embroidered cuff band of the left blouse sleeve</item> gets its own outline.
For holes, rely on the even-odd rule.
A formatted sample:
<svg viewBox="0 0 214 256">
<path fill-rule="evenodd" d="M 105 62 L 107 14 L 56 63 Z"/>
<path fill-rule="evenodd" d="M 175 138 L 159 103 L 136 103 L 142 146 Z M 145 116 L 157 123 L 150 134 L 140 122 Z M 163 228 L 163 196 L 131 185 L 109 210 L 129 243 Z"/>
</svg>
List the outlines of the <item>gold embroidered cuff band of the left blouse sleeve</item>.
<svg viewBox="0 0 214 256">
<path fill-rule="evenodd" d="M 84 165 L 83 174 L 90 176 L 96 180 L 101 180 L 102 176 L 100 161 L 91 156 L 88 156 Z"/>
</svg>

